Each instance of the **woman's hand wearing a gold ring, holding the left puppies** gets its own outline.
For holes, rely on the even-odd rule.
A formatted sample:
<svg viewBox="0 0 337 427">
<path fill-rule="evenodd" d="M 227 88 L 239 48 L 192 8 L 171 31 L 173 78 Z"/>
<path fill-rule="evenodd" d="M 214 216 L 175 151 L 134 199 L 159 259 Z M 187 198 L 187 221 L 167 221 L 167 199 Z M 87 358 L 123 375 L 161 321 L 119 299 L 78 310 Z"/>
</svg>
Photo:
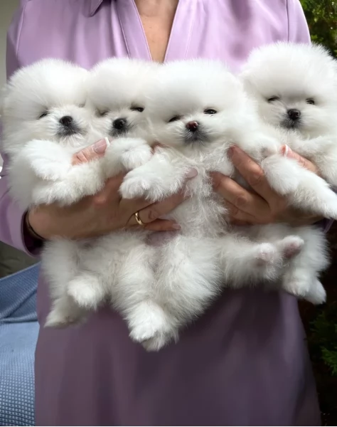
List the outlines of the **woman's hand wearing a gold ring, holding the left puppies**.
<svg viewBox="0 0 337 427">
<path fill-rule="evenodd" d="M 104 156 L 107 144 L 104 139 L 83 149 L 73 157 L 73 164 L 90 162 Z M 191 178 L 193 173 L 191 174 Z M 123 174 L 108 179 L 105 188 L 95 196 L 87 196 L 77 204 L 60 207 L 57 204 L 38 206 L 27 214 L 27 221 L 33 232 L 41 238 L 55 237 L 87 238 L 101 236 L 124 227 L 137 226 L 134 214 L 144 228 L 152 231 L 171 231 L 179 227 L 173 221 L 161 220 L 184 199 L 183 191 L 169 199 L 155 204 L 146 200 L 123 200 L 119 195 Z"/>
</svg>

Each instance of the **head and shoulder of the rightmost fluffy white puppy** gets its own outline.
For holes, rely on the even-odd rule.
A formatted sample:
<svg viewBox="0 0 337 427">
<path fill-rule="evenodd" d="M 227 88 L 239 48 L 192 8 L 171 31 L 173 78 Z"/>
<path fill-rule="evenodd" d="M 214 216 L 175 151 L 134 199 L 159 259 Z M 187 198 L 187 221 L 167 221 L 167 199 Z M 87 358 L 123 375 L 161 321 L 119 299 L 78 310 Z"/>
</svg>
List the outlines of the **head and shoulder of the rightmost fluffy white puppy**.
<svg viewBox="0 0 337 427">
<path fill-rule="evenodd" d="M 242 79 L 263 120 L 337 186 L 336 59 L 322 46 L 275 43 L 252 52 Z"/>
</svg>

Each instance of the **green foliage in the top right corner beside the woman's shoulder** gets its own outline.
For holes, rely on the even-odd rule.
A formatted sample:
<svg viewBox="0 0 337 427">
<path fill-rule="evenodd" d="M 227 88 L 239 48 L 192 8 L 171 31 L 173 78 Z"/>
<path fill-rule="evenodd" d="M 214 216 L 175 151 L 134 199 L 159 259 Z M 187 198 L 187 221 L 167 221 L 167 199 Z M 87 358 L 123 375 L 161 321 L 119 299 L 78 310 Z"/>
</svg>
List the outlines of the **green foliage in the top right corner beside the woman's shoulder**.
<svg viewBox="0 0 337 427">
<path fill-rule="evenodd" d="M 337 57 L 337 0 L 301 0 L 311 40 Z"/>
</svg>

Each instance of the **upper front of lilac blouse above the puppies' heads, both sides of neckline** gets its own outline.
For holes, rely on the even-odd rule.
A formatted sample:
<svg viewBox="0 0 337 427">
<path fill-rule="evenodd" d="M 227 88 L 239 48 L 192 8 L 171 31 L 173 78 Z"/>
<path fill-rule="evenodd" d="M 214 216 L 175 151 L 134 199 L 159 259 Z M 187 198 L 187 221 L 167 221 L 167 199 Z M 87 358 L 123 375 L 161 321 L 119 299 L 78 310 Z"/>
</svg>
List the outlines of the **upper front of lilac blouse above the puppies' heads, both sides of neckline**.
<svg viewBox="0 0 337 427">
<path fill-rule="evenodd" d="M 18 31 L 19 66 L 47 57 L 85 68 L 110 56 L 151 59 L 133 0 L 28 0 Z M 287 31 L 285 0 L 180 0 L 165 60 L 218 59 L 237 70 L 252 48 L 287 40 Z"/>
</svg>

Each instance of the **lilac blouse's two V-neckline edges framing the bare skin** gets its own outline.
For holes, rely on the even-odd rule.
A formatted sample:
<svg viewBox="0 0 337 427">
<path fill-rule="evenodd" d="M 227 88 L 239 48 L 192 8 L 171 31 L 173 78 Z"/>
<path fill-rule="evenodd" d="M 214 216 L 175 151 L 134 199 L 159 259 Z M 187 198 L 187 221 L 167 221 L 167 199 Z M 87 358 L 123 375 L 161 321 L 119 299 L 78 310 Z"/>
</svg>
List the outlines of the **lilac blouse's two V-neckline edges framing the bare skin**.
<svg viewBox="0 0 337 427">
<path fill-rule="evenodd" d="M 134 0 L 117 0 L 117 13 L 129 56 L 131 58 L 152 60 L 141 17 Z M 195 14 L 195 0 L 178 1 L 164 62 L 186 58 Z M 186 19 L 187 17 L 188 19 Z M 179 37 L 186 33 L 187 37 Z"/>
</svg>

